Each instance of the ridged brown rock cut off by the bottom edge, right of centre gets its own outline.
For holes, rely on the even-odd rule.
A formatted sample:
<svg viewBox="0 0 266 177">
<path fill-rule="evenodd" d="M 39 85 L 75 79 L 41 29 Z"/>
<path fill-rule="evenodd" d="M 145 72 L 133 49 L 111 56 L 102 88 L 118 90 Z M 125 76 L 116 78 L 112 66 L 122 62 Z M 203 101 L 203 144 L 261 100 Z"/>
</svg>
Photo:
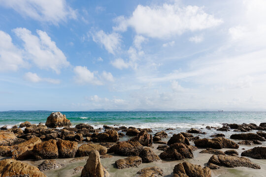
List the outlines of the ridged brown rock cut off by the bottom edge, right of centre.
<svg viewBox="0 0 266 177">
<path fill-rule="evenodd" d="M 211 170 L 208 167 L 202 168 L 200 165 L 183 162 L 174 166 L 173 174 L 173 177 L 211 177 Z"/>
</svg>

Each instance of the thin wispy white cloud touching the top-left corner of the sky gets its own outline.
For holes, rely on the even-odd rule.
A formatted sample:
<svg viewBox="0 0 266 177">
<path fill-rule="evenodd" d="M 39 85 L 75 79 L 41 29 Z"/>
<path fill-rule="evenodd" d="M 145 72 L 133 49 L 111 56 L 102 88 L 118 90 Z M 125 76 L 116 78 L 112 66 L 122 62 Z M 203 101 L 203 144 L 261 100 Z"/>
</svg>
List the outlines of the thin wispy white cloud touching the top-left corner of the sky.
<svg viewBox="0 0 266 177">
<path fill-rule="evenodd" d="M 66 0 L 0 0 L 0 5 L 12 8 L 24 17 L 56 25 L 60 21 L 76 19 L 76 11 L 66 4 Z"/>
</svg>

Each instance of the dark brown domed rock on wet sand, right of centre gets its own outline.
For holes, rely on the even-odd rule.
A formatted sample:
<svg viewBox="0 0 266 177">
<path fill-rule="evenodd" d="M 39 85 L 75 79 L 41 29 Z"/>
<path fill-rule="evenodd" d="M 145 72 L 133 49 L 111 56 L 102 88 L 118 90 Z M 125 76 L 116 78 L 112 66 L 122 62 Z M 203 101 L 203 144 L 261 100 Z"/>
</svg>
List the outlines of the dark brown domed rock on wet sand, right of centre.
<svg viewBox="0 0 266 177">
<path fill-rule="evenodd" d="M 167 161 L 182 160 L 185 158 L 193 158 L 193 153 L 186 144 L 175 143 L 170 145 L 166 151 L 162 152 L 160 157 Z"/>
</svg>

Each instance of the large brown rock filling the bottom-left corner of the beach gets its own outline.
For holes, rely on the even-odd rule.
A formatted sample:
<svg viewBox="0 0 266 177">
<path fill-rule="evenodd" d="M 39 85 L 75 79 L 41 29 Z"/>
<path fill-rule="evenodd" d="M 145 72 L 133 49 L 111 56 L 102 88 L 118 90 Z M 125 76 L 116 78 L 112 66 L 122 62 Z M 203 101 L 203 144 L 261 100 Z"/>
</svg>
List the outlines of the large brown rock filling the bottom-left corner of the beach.
<svg viewBox="0 0 266 177">
<path fill-rule="evenodd" d="M 0 161 L 1 177 L 46 177 L 37 167 L 14 159 Z"/>
</svg>

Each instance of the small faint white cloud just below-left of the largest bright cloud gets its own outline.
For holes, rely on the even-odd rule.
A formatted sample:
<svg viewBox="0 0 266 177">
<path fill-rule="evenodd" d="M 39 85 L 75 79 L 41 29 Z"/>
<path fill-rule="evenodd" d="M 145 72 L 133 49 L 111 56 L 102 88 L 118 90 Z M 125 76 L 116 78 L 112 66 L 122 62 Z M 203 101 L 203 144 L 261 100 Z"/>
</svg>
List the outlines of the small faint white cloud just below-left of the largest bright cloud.
<svg viewBox="0 0 266 177">
<path fill-rule="evenodd" d="M 92 37 L 94 42 L 103 45 L 111 54 L 115 54 L 115 52 L 120 49 L 121 35 L 116 32 L 107 34 L 103 30 L 100 30 L 92 34 Z"/>
</svg>

